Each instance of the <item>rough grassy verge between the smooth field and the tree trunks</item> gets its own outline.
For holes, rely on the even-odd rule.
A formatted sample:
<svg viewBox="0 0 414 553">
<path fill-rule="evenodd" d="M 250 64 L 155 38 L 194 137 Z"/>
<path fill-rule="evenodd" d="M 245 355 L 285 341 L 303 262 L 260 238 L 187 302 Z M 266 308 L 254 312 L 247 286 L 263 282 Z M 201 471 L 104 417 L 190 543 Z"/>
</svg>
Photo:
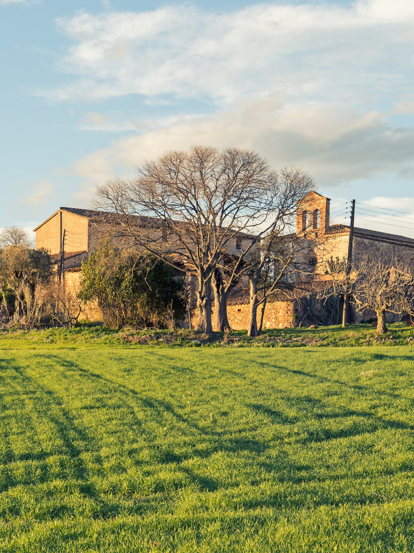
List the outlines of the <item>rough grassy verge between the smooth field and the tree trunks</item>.
<svg viewBox="0 0 414 553">
<path fill-rule="evenodd" d="M 193 340 L 206 347 L 348 347 L 348 346 L 410 346 L 414 327 L 404 323 L 388 325 L 390 332 L 379 336 L 371 325 L 326 326 L 311 328 L 283 328 L 265 330 L 257 338 L 248 338 L 246 331 L 230 332 L 227 337 L 216 332 L 202 338 L 188 330 L 111 330 L 102 326 L 83 324 L 76 328 L 49 328 L 47 330 L 0 331 L 0 349 L 11 346 L 33 348 L 35 345 L 131 345 L 156 347 L 194 347 Z"/>
</svg>

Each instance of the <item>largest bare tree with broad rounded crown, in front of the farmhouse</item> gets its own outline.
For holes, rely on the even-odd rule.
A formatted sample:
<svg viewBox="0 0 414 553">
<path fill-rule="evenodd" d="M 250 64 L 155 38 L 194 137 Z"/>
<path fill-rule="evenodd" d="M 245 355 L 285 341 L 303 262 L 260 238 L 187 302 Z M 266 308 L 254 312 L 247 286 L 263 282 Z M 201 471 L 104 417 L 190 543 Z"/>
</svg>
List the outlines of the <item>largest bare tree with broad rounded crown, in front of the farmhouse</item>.
<svg viewBox="0 0 414 553">
<path fill-rule="evenodd" d="M 214 272 L 224 266 L 242 236 L 245 247 L 234 255 L 228 280 L 230 287 L 234 285 L 243 255 L 256 245 L 257 231 L 269 227 L 275 182 L 268 163 L 254 152 L 193 147 L 188 153 L 167 152 L 145 163 L 136 180 L 107 182 L 98 189 L 98 206 L 116 213 L 118 224 L 132 239 L 130 246 L 144 248 L 195 276 L 197 330 L 209 334 Z M 223 317 L 218 326 L 222 322 Z"/>
</svg>

